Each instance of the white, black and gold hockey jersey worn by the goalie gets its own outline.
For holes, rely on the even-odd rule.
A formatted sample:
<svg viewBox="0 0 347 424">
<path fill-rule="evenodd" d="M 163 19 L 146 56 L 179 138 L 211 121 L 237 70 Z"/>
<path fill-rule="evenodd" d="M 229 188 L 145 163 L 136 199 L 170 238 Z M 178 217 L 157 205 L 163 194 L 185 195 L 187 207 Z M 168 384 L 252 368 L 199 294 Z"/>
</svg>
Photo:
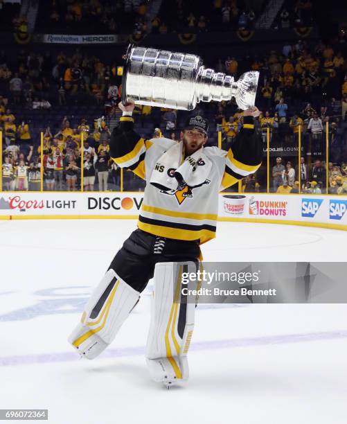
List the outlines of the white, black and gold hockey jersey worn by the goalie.
<svg viewBox="0 0 347 424">
<path fill-rule="evenodd" d="M 155 236 L 199 240 L 200 244 L 215 237 L 219 191 L 254 173 L 261 163 L 262 144 L 253 134 L 253 118 L 247 116 L 245 121 L 238 141 L 229 152 L 204 148 L 213 166 L 203 184 L 186 185 L 169 194 L 152 186 L 150 177 L 158 159 L 177 142 L 166 138 L 144 140 L 132 130 L 132 117 L 121 118 L 112 132 L 110 152 L 118 166 L 131 169 L 147 182 L 139 229 Z"/>
</svg>

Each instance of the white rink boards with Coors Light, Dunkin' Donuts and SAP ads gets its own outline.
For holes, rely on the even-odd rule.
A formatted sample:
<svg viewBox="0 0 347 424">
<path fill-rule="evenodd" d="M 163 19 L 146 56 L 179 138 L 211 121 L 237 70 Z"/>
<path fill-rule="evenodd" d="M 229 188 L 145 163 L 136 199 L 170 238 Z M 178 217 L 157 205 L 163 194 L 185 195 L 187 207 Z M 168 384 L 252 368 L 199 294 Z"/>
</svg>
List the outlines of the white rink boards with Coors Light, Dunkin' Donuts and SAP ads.
<svg viewBox="0 0 347 424">
<path fill-rule="evenodd" d="M 187 199 L 186 201 L 189 201 Z M 0 219 L 136 219 L 143 193 L 1 193 Z M 180 205 L 177 205 L 182 209 Z M 347 229 L 347 197 L 220 193 L 222 221 L 269 222 Z"/>
</svg>

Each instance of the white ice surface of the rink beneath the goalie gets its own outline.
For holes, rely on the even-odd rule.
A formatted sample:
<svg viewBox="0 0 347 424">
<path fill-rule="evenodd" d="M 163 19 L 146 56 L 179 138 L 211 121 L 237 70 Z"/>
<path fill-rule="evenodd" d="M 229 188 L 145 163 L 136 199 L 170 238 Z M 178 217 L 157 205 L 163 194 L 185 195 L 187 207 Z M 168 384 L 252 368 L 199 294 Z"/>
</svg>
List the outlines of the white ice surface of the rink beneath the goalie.
<svg viewBox="0 0 347 424">
<path fill-rule="evenodd" d="M 150 299 L 103 355 L 66 337 L 132 220 L 0 221 L 0 408 L 48 408 L 48 423 L 346 423 L 347 306 L 199 306 L 190 380 L 152 382 Z M 204 260 L 346 260 L 343 231 L 220 222 Z M 13 421 L 17 422 L 17 421 Z"/>
</svg>

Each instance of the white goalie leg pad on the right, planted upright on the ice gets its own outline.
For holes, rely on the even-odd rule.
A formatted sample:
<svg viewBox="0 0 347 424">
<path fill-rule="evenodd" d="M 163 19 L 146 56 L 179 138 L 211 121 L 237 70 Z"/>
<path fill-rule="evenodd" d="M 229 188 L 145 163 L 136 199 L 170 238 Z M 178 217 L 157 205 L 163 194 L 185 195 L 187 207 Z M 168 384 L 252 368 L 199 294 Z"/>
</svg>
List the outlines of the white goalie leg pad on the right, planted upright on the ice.
<svg viewBox="0 0 347 424">
<path fill-rule="evenodd" d="M 157 263 L 154 297 L 146 346 L 152 379 L 167 386 L 189 376 L 187 353 L 194 329 L 195 303 L 187 302 L 182 288 L 197 290 L 197 281 L 182 285 L 182 274 L 197 272 L 194 262 Z M 191 299 L 191 297 L 190 297 Z"/>
</svg>

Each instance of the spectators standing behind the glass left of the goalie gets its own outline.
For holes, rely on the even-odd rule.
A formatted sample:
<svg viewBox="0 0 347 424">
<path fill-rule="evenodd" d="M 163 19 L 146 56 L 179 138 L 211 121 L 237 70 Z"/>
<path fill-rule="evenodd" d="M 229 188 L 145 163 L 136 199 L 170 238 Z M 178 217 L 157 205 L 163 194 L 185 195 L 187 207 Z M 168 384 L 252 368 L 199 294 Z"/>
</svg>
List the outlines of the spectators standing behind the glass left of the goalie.
<svg viewBox="0 0 347 424">
<path fill-rule="evenodd" d="M 0 109 L 6 99 L 0 98 Z M 3 130 L 3 191 L 39 191 L 41 163 L 44 191 L 118 191 L 121 175 L 118 166 L 109 157 L 111 132 L 104 118 L 91 125 L 82 118 L 79 125 L 71 125 L 65 116 L 57 131 L 46 127 L 42 145 L 30 136 L 27 123 L 16 127 L 16 117 L 10 109 L 2 114 Z M 155 136 L 155 134 L 154 134 Z M 83 168 L 83 173 L 81 172 Z M 143 184 L 131 172 L 123 175 L 123 188 L 141 191 Z"/>
</svg>

